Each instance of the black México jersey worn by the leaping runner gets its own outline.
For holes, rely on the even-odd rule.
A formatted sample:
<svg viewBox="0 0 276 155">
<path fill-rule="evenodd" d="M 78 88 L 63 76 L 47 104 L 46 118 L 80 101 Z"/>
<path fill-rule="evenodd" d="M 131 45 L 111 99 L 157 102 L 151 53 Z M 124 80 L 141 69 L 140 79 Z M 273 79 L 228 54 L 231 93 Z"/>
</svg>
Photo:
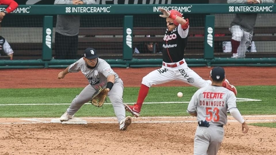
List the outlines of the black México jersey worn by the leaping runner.
<svg viewBox="0 0 276 155">
<path fill-rule="evenodd" d="M 163 61 L 166 63 L 178 62 L 184 58 L 184 51 L 187 45 L 188 39 L 187 30 L 181 28 L 181 24 L 177 26 L 172 32 L 166 30 L 163 38 Z"/>
</svg>

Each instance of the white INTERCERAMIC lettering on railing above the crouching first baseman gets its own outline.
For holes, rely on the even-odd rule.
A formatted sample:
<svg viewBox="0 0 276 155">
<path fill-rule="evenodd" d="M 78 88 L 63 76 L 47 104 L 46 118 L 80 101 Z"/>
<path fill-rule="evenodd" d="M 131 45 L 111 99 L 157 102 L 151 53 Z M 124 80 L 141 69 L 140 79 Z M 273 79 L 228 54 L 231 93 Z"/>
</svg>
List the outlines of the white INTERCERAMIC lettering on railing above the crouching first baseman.
<svg viewBox="0 0 276 155">
<path fill-rule="evenodd" d="M 65 13 L 109 13 L 109 7 L 65 7 Z"/>
</svg>

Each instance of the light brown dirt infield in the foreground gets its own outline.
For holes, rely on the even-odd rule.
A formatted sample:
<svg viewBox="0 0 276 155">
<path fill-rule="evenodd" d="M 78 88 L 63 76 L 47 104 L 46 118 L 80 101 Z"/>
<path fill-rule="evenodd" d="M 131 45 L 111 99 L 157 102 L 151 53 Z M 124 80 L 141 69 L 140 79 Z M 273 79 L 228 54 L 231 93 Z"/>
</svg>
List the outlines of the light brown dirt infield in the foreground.
<svg viewBox="0 0 276 155">
<path fill-rule="evenodd" d="M 134 118 L 126 131 L 115 118 L 83 118 L 88 124 L 1 119 L 0 154 L 193 154 L 195 117 Z M 275 116 L 245 116 L 252 122 L 275 122 Z M 218 154 L 274 154 L 276 129 L 250 126 L 247 134 L 229 117 Z M 18 123 L 18 124 L 16 124 Z"/>
</svg>

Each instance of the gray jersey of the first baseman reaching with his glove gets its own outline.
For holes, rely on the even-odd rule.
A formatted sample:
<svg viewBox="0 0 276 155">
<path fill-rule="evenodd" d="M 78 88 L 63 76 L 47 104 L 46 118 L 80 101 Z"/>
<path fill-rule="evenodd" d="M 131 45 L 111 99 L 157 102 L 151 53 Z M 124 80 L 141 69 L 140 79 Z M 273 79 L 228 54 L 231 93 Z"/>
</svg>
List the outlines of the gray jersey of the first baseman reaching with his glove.
<svg viewBox="0 0 276 155">
<path fill-rule="evenodd" d="M 95 89 L 99 89 L 100 87 L 106 87 L 107 85 L 107 77 L 109 75 L 115 75 L 115 82 L 120 81 L 117 73 L 111 69 L 110 65 L 103 59 L 98 58 L 98 63 L 95 68 L 90 69 L 86 66 L 83 58 L 79 59 L 75 63 L 69 66 L 69 72 L 78 72 L 81 71 L 85 78 L 87 78 L 89 84 Z"/>
</svg>

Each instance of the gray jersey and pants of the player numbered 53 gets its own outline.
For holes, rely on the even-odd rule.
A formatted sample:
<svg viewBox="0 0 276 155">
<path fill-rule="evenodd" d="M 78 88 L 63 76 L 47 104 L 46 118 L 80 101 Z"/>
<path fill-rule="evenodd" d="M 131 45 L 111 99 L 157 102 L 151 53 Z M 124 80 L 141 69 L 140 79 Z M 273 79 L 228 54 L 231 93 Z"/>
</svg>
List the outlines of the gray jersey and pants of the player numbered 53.
<svg viewBox="0 0 276 155">
<path fill-rule="evenodd" d="M 235 94 L 220 86 L 200 88 L 191 98 L 187 112 L 197 111 L 197 121 L 206 120 L 209 127 L 196 129 L 194 154 L 217 154 L 223 141 L 224 129 L 218 125 L 227 123 L 227 110 L 236 107 Z"/>
</svg>

